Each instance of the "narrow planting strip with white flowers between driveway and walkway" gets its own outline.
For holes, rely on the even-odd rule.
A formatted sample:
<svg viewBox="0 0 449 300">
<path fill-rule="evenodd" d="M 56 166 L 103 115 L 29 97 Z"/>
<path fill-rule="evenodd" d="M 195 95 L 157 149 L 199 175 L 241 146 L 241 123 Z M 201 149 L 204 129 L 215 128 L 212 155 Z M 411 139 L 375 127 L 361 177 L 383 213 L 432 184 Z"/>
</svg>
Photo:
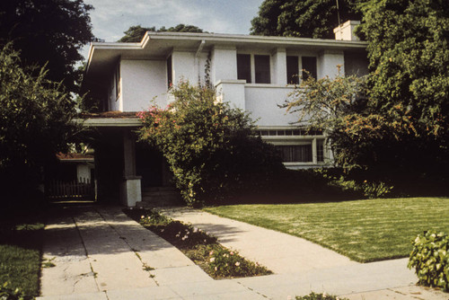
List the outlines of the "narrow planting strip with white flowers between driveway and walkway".
<svg viewBox="0 0 449 300">
<path fill-rule="evenodd" d="M 245 260 L 237 251 L 226 249 L 216 242 L 216 237 L 192 225 L 174 221 L 154 210 L 128 209 L 125 212 L 172 243 L 212 278 L 242 278 L 272 273 L 257 262 Z"/>
</svg>

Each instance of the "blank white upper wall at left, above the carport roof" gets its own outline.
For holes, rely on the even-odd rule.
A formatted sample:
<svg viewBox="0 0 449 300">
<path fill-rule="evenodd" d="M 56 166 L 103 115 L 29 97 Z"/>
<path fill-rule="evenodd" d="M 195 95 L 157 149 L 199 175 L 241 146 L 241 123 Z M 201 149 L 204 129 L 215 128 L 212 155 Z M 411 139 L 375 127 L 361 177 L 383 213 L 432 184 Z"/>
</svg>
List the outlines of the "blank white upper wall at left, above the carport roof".
<svg viewBox="0 0 449 300">
<path fill-rule="evenodd" d="M 120 63 L 124 101 L 121 111 L 146 110 L 154 97 L 156 103 L 165 107 L 167 72 L 165 60 L 127 60 Z"/>
</svg>

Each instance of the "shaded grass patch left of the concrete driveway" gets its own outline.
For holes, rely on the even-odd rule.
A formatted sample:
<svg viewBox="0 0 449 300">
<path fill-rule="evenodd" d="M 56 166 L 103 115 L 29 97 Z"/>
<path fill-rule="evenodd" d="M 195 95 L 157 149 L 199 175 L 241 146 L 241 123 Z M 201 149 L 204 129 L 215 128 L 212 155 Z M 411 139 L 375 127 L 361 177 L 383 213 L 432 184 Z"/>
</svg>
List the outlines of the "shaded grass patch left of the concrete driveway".
<svg viewBox="0 0 449 300">
<path fill-rule="evenodd" d="M 0 285 L 38 296 L 40 292 L 41 231 L 39 222 L 8 217 L 0 224 Z"/>
</svg>

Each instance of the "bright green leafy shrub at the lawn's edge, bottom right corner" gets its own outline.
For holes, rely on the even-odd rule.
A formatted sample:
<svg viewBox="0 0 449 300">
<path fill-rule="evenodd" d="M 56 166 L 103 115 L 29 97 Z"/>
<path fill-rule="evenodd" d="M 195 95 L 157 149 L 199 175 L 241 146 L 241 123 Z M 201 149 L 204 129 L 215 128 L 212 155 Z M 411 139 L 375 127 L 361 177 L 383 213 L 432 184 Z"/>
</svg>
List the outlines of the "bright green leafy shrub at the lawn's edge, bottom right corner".
<svg viewBox="0 0 449 300">
<path fill-rule="evenodd" d="M 427 231 L 418 234 L 409 257 L 409 269 L 415 268 L 419 284 L 449 290 L 449 236 Z"/>
</svg>

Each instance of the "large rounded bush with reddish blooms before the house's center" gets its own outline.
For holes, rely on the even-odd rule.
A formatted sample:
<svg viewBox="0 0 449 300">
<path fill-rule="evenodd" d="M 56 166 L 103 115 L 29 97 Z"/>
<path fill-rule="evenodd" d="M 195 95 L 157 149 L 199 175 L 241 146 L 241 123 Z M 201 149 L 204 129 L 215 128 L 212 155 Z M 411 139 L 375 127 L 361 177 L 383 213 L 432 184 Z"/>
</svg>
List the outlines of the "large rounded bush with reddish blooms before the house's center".
<svg viewBox="0 0 449 300">
<path fill-rule="evenodd" d="M 139 113 L 139 136 L 161 150 L 189 206 L 259 190 L 283 169 L 274 146 L 255 137 L 249 116 L 216 101 L 215 90 L 181 82 L 171 93 L 165 110 Z"/>
</svg>

